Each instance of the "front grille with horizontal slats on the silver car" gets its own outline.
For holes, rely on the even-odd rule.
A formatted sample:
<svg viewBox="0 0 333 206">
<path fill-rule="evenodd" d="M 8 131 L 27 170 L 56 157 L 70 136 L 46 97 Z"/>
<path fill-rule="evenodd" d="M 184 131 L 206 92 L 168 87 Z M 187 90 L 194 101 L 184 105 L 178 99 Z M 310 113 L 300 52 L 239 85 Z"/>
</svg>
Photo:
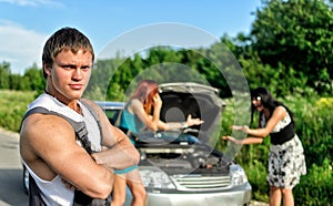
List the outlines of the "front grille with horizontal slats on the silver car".
<svg viewBox="0 0 333 206">
<path fill-rule="evenodd" d="M 179 190 L 219 190 L 231 187 L 229 176 L 174 175 L 172 176 Z"/>
</svg>

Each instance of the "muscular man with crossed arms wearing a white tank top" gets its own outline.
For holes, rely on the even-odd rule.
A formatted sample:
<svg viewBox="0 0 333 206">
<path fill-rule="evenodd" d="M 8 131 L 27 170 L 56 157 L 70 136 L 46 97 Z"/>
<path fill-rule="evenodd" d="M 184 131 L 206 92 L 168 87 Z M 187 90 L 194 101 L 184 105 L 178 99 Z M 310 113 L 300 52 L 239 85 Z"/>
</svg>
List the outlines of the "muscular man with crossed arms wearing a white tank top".
<svg viewBox="0 0 333 206">
<path fill-rule="evenodd" d="M 97 104 L 81 99 L 93 61 L 93 48 L 84 34 L 73 28 L 58 30 L 43 48 L 46 93 L 34 100 L 28 111 L 44 107 L 75 122 L 84 122 L 92 151 L 108 147 L 107 154 L 112 162 L 108 167 L 98 164 L 102 153 L 90 155 L 77 138 L 73 126 L 63 117 L 41 113 L 28 115 L 22 121 L 20 154 L 32 177 L 30 205 L 73 205 L 73 188 L 92 198 L 105 198 L 112 192 L 112 168 L 122 169 L 139 162 L 139 153 L 129 138 L 110 124 Z"/>
</svg>

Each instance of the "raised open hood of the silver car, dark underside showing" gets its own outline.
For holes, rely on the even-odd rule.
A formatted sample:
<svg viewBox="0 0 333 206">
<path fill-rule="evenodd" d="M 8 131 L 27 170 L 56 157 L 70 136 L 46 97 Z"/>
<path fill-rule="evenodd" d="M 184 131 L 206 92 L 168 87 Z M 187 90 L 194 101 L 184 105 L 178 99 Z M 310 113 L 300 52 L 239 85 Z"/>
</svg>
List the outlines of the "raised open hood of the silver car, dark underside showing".
<svg viewBox="0 0 333 206">
<path fill-rule="evenodd" d="M 203 124 L 192 126 L 199 131 L 195 136 L 205 142 L 221 123 L 225 102 L 219 96 L 219 90 L 210 85 L 193 82 L 160 84 L 162 99 L 160 119 L 163 122 L 185 122 L 189 114 L 201 119 Z"/>
</svg>

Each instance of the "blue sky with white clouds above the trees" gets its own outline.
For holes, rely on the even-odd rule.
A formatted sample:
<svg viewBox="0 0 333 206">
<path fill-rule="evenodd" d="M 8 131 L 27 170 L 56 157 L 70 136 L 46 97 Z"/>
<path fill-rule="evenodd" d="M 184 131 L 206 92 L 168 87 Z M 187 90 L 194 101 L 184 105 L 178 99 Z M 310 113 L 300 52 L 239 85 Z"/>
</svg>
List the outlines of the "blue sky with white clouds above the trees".
<svg viewBox="0 0 333 206">
<path fill-rule="evenodd" d="M 246 34 L 260 7 L 261 0 L 0 0 L 0 63 L 9 62 L 11 72 L 20 74 L 33 63 L 41 66 L 44 42 L 63 27 L 82 31 L 97 54 L 115 45 L 110 42 L 122 50 L 125 44 L 152 39 L 151 30 L 147 34 L 140 28 L 157 24 L 160 27 L 153 30 L 160 33 L 171 23 L 175 30 L 190 27 L 215 39 Z M 141 32 L 135 33 L 138 30 Z M 117 41 L 129 33 L 142 37 Z M 172 33 L 167 31 L 167 35 Z M 195 40 L 198 45 L 206 43 L 202 38 Z"/>
</svg>

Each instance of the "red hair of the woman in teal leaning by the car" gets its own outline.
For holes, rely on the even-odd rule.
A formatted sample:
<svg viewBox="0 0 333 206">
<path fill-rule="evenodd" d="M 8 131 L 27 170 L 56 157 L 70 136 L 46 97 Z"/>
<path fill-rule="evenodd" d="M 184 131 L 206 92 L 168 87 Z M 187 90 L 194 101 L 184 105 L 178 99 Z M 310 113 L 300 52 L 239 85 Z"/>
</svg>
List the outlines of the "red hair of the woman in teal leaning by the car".
<svg viewBox="0 0 333 206">
<path fill-rule="evenodd" d="M 142 80 L 135 91 L 132 99 L 138 99 L 143 104 L 143 110 L 147 114 L 151 114 L 153 96 L 158 93 L 159 84 L 153 80 Z"/>
</svg>

